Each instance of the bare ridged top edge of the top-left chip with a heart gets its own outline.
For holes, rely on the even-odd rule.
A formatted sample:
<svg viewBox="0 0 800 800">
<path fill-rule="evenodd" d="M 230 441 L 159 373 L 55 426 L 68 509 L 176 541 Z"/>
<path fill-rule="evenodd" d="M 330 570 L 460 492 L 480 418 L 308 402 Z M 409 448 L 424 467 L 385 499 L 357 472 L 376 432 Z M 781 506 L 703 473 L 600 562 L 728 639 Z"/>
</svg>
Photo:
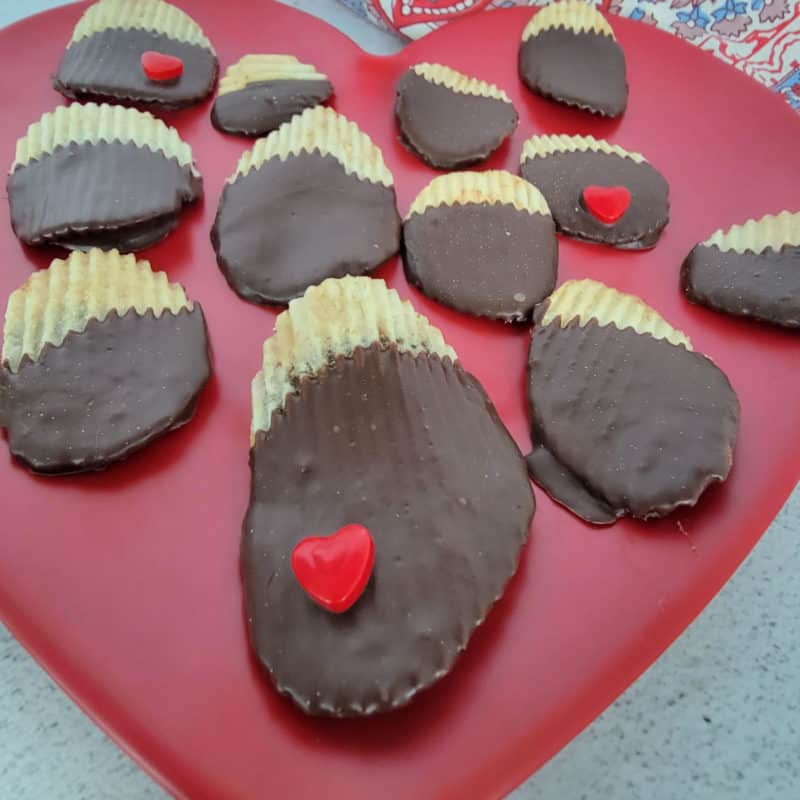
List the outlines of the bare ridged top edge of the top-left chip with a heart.
<svg viewBox="0 0 800 800">
<path fill-rule="evenodd" d="M 78 20 L 70 44 L 109 28 L 139 28 L 162 33 L 170 39 L 214 52 L 202 28 L 186 12 L 164 0 L 99 0 Z"/>
</svg>

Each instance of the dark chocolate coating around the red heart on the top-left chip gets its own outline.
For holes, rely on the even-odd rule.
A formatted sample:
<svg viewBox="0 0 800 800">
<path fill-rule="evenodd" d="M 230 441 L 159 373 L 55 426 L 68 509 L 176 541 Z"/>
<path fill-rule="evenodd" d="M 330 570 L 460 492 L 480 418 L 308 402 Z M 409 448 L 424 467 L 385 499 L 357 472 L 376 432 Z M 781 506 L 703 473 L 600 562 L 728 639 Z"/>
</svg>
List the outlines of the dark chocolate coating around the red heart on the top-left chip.
<svg viewBox="0 0 800 800">
<path fill-rule="evenodd" d="M 174 81 L 151 81 L 141 63 L 142 53 L 148 50 L 180 58 L 181 76 Z M 200 45 L 141 28 L 106 28 L 66 49 L 53 87 L 76 100 L 184 108 L 211 93 L 217 69 L 217 57 Z"/>
</svg>

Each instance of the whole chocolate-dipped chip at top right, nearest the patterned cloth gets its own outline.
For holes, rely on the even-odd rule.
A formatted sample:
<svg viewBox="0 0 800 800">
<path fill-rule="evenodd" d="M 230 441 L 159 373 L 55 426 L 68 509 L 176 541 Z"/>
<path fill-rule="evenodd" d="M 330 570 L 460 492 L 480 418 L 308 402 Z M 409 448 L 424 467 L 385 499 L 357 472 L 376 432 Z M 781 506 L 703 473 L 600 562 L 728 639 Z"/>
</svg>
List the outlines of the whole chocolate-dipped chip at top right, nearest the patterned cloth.
<svg viewBox="0 0 800 800">
<path fill-rule="evenodd" d="M 525 27 L 519 75 L 533 92 L 618 117 L 628 102 L 625 54 L 605 17 L 583 0 L 539 10 Z"/>
</svg>

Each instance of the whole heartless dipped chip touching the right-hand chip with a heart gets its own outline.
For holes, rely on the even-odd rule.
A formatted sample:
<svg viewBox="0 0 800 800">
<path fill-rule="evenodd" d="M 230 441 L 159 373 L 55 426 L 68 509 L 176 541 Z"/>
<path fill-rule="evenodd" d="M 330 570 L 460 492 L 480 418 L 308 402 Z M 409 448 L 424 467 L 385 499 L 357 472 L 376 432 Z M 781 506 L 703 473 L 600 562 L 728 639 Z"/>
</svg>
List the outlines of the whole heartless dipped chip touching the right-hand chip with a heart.
<svg viewBox="0 0 800 800">
<path fill-rule="evenodd" d="M 411 205 L 403 243 L 409 282 L 474 316 L 530 319 L 556 285 L 558 243 L 547 203 L 502 170 L 434 178 Z"/>
</svg>

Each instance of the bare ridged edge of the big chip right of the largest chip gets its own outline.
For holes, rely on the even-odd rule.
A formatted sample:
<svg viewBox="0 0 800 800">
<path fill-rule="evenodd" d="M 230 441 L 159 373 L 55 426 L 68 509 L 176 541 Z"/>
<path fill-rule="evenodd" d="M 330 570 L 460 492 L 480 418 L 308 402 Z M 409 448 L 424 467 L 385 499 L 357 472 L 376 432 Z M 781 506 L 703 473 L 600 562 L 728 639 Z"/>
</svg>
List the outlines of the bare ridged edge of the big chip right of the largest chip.
<svg viewBox="0 0 800 800">
<path fill-rule="evenodd" d="M 601 327 L 633 328 L 636 333 L 650 334 L 655 339 L 666 339 L 671 344 L 692 349 L 685 333 L 673 328 L 658 311 L 636 295 L 620 292 L 589 278 L 566 281 L 548 298 L 539 324 L 549 325 L 556 318 L 562 328 L 576 318 L 582 327 L 594 320 Z"/>
</svg>

